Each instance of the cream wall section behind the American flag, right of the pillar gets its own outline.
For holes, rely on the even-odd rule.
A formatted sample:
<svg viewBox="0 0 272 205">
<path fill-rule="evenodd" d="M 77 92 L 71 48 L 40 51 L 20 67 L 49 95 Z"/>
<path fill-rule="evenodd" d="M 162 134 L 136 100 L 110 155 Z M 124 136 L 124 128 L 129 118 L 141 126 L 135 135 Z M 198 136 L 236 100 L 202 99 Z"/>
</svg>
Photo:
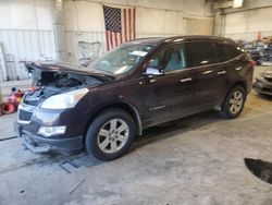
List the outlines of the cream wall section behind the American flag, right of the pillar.
<svg viewBox="0 0 272 205">
<path fill-rule="evenodd" d="M 69 61 L 73 62 L 79 58 L 77 43 L 82 40 L 101 41 L 101 52 L 106 51 L 102 4 L 109 7 L 135 7 L 136 38 L 186 34 L 186 16 L 206 19 L 208 13 L 205 0 L 67 0 L 64 4 L 64 11 L 69 14 L 65 16 Z M 195 8 L 195 10 L 191 8 Z"/>
</svg>

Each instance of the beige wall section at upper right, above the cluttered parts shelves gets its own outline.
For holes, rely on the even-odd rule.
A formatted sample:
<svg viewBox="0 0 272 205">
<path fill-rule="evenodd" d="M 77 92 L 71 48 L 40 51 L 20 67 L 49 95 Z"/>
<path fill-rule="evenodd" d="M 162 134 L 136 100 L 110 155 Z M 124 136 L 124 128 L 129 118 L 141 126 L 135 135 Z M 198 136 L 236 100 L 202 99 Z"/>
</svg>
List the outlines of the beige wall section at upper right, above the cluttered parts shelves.
<svg viewBox="0 0 272 205">
<path fill-rule="evenodd" d="M 225 11 L 225 36 L 246 41 L 256 40 L 258 32 L 261 37 L 271 36 L 271 0 L 246 0 L 244 8 Z"/>
</svg>

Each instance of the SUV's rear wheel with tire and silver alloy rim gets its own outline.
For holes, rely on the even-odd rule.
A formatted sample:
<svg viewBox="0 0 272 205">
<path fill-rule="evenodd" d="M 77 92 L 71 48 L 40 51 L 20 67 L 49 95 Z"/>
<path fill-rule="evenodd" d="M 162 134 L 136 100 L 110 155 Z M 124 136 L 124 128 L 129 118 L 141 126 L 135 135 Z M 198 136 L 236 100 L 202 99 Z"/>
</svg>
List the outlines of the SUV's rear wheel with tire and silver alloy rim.
<svg viewBox="0 0 272 205">
<path fill-rule="evenodd" d="M 244 109 L 246 97 L 243 86 L 234 86 L 226 95 L 220 114 L 226 119 L 237 118 Z"/>
</svg>

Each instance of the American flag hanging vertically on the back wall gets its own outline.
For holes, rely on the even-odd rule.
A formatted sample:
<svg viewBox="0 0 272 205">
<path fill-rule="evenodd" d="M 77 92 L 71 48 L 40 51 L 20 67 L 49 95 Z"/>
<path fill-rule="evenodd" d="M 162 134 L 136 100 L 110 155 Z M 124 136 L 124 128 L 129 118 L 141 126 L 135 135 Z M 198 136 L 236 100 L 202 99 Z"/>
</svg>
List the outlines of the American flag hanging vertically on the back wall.
<svg viewBox="0 0 272 205">
<path fill-rule="evenodd" d="M 107 50 L 124 41 L 135 39 L 135 8 L 103 5 Z"/>
</svg>

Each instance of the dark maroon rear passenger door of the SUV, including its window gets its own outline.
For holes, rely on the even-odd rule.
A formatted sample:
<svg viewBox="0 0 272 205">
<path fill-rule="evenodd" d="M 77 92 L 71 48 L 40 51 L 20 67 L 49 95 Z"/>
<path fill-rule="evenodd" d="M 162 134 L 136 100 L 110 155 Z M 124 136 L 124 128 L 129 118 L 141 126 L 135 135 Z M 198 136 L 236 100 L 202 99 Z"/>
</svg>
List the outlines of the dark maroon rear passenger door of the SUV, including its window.
<svg viewBox="0 0 272 205">
<path fill-rule="evenodd" d="M 225 63 L 219 61 L 217 45 L 208 40 L 187 43 L 186 52 L 196 74 L 194 112 L 221 104 L 230 82 Z"/>
</svg>

